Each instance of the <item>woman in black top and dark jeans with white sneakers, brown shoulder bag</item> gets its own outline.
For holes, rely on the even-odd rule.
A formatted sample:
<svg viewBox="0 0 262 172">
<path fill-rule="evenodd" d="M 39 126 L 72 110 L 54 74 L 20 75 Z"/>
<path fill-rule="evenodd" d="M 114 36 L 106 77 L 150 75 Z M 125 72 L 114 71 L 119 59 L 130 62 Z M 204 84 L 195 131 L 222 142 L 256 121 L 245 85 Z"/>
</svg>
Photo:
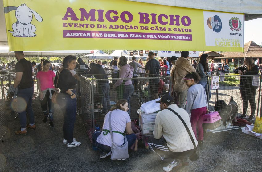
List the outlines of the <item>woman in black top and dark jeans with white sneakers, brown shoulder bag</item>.
<svg viewBox="0 0 262 172">
<path fill-rule="evenodd" d="M 76 57 L 67 56 L 63 60 L 63 68 L 57 72 L 59 79 L 56 88 L 58 87 L 61 90 L 58 104 L 64 115 L 63 143 L 67 144 L 67 147 L 76 147 L 81 144 L 81 142 L 76 142 L 76 139 L 73 138 L 76 120 L 76 78 L 72 76 L 69 70 L 74 70 L 75 67 Z"/>
</svg>

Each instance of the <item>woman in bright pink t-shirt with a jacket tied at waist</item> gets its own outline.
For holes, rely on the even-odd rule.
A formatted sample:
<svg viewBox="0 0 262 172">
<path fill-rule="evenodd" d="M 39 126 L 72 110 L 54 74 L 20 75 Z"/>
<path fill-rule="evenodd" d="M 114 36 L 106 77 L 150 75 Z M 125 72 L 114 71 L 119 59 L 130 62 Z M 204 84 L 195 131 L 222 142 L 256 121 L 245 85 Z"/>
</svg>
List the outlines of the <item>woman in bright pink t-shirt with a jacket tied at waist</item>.
<svg viewBox="0 0 262 172">
<path fill-rule="evenodd" d="M 42 62 L 42 68 L 42 71 L 37 72 L 36 80 L 37 88 L 39 90 L 39 100 L 41 100 L 41 108 L 44 113 L 43 123 L 47 123 L 47 119 L 49 117 L 49 126 L 54 127 L 54 104 L 52 102 L 52 95 L 55 92 L 55 72 L 49 70 L 50 61 L 48 60 Z M 47 111 L 47 104 L 49 112 Z"/>
</svg>

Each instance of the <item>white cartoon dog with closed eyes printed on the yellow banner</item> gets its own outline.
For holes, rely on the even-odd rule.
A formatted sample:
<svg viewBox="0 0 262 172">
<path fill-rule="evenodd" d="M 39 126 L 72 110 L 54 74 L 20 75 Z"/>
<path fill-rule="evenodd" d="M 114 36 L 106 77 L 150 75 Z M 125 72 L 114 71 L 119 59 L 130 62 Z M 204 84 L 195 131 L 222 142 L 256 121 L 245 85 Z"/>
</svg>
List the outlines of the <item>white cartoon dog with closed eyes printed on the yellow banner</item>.
<svg viewBox="0 0 262 172">
<path fill-rule="evenodd" d="M 7 6 L 4 7 L 4 12 L 8 13 L 12 10 L 15 10 L 15 17 L 17 18 L 17 22 L 15 22 L 12 25 L 13 31 L 8 30 L 10 33 L 13 33 L 12 35 L 23 37 L 24 35 L 26 37 L 35 37 L 35 25 L 32 25 L 32 19 L 33 19 L 33 14 L 36 18 L 37 21 L 42 22 L 43 19 L 42 17 L 35 12 L 34 10 L 30 9 L 29 7 L 26 6 L 26 4 L 22 4 L 21 6 L 15 7 L 15 6 Z"/>
</svg>

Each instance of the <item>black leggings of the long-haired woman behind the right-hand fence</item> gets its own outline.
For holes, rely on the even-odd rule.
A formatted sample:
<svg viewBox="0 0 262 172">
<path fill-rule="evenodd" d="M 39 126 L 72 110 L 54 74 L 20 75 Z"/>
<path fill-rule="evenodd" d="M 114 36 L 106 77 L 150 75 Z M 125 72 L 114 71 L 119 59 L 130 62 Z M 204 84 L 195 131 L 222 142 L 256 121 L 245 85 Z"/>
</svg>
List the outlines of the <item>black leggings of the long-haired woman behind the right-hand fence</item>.
<svg viewBox="0 0 262 172">
<path fill-rule="evenodd" d="M 243 100 L 243 114 L 247 114 L 249 101 L 251 107 L 251 116 L 254 116 L 256 111 L 256 88 L 240 89 L 240 94 Z"/>
</svg>

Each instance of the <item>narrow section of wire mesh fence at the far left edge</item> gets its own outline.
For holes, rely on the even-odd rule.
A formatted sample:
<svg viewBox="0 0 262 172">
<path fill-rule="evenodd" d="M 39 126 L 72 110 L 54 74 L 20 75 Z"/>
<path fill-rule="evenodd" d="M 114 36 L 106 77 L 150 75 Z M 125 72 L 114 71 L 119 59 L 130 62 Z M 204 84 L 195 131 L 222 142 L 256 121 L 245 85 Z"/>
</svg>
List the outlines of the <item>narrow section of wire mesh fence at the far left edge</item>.
<svg viewBox="0 0 262 172">
<path fill-rule="evenodd" d="M 0 84 L 1 84 L 1 93 L 0 93 L 0 140 L 5 135 L 7 131 L 7 119 L 5 113 L 5 99 L 4 99 L 4 84 L 3 78 L 0 77 Z"/>
</svg>

